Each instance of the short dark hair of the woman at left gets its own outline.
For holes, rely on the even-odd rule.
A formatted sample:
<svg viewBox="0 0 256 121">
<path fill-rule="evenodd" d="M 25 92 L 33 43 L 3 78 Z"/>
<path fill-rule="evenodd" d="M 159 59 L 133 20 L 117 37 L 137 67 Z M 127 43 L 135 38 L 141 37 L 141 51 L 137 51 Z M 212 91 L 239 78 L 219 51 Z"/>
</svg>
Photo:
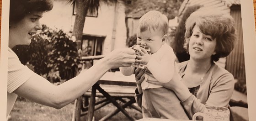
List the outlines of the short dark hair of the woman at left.
<svg viewBox="0 0 256 121">
<path fill-rule="evenodd" d="M 9 22 L 21 21 L 30 12 L 46 12 L 52 9 L 53 0 L 10 0 Z"/>
</svg>

